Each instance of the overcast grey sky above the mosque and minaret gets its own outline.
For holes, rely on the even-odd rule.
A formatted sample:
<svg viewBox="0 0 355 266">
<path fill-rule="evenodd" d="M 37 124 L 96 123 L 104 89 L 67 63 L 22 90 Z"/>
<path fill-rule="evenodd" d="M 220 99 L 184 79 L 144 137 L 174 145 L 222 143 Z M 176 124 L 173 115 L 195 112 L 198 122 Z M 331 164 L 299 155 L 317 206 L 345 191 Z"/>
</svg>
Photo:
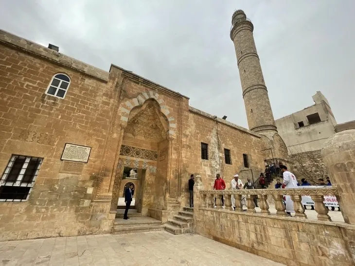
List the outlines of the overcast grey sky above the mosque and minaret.
<svg viewBox="0 0 355 266">
<path fill-rule="evenodd" d="M 275 119 L 320 90 L 355 119 L 355 0 L 0 0 L 0 28 L 108 71 L 121 66 L 248 127 L 231 15 L 243 9 Z"/>
</svg>

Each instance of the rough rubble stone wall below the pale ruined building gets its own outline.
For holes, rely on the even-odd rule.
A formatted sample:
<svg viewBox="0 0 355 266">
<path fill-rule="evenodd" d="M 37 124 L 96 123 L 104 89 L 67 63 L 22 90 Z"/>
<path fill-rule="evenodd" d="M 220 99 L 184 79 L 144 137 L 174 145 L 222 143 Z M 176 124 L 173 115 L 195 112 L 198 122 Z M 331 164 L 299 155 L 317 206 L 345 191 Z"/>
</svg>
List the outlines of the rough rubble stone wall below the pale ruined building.
<svg viewBox="0 0 355 266">
<path fill-rule="evenodd" d="M 302 178 L 313 184 L 317 184 L 319 178 L 323 178 L 325 181 L 327 169 L 321 156 L 321 150 L 291 154 L 290 161 L 294 163 L 293 171 L 298 182 L 301 182 Z"/>
</svg>

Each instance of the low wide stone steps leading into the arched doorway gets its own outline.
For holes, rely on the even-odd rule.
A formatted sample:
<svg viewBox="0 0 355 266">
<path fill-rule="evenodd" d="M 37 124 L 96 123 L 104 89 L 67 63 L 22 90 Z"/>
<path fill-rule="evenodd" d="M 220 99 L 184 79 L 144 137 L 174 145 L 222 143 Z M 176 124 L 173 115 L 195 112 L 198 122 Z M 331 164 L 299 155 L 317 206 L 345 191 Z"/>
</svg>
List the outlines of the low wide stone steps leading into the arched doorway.
<svg viewBox="0 0 355 266">
<path fill-rule="evenodd" d="M 113 224 L 113 233 L 141 233 L 164 230 L 160 220 L 148 216 L 130 216 L 130 219 L 116 218 Z"/>
</svg>

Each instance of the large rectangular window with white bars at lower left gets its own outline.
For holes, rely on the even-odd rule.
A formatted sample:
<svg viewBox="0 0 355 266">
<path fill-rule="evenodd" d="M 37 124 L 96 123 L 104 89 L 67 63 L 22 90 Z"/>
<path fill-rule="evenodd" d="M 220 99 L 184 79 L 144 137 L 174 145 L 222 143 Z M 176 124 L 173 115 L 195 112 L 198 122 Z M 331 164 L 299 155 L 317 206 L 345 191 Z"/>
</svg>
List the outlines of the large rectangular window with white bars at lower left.
<svg viewBox="0 0 355 266">
<path fill-rule="evenodd" d="M 0 201 L 27 201 L 43 158 L 12 155 L 0 180 Z"/>
</svg>

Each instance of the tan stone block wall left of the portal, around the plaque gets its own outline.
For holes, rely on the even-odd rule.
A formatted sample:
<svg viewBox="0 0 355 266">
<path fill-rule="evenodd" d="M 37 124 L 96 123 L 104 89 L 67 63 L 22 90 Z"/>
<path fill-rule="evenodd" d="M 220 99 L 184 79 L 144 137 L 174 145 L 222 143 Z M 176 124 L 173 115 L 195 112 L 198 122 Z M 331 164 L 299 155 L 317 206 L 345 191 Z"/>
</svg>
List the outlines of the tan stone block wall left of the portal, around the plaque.
<svg viewBox="0 0 355 266">
<path fill-rule="evenodd" d="M 42 55 L 23 52 L 22 44 Z M 0 44 L 0 169 L 12 154 L 44 159 L 28 201 L 0 202 L 0 239 L 108 233 L 114 218 L 109 205 L 90 202 L 116 78 L 108 81 L 107 72 L 93 67 L 84 73 L 88 68 L 74 59 L 66 62 L 76 69 L 57 65 L 51 50 L 18 45 Z M 56 73 L 71 78 L 64 99 L 45 94 Z M 66 143 L 91 147 L 89 162 L 72 163 L 68 170 L 60 160 Z"/>
</svg>

